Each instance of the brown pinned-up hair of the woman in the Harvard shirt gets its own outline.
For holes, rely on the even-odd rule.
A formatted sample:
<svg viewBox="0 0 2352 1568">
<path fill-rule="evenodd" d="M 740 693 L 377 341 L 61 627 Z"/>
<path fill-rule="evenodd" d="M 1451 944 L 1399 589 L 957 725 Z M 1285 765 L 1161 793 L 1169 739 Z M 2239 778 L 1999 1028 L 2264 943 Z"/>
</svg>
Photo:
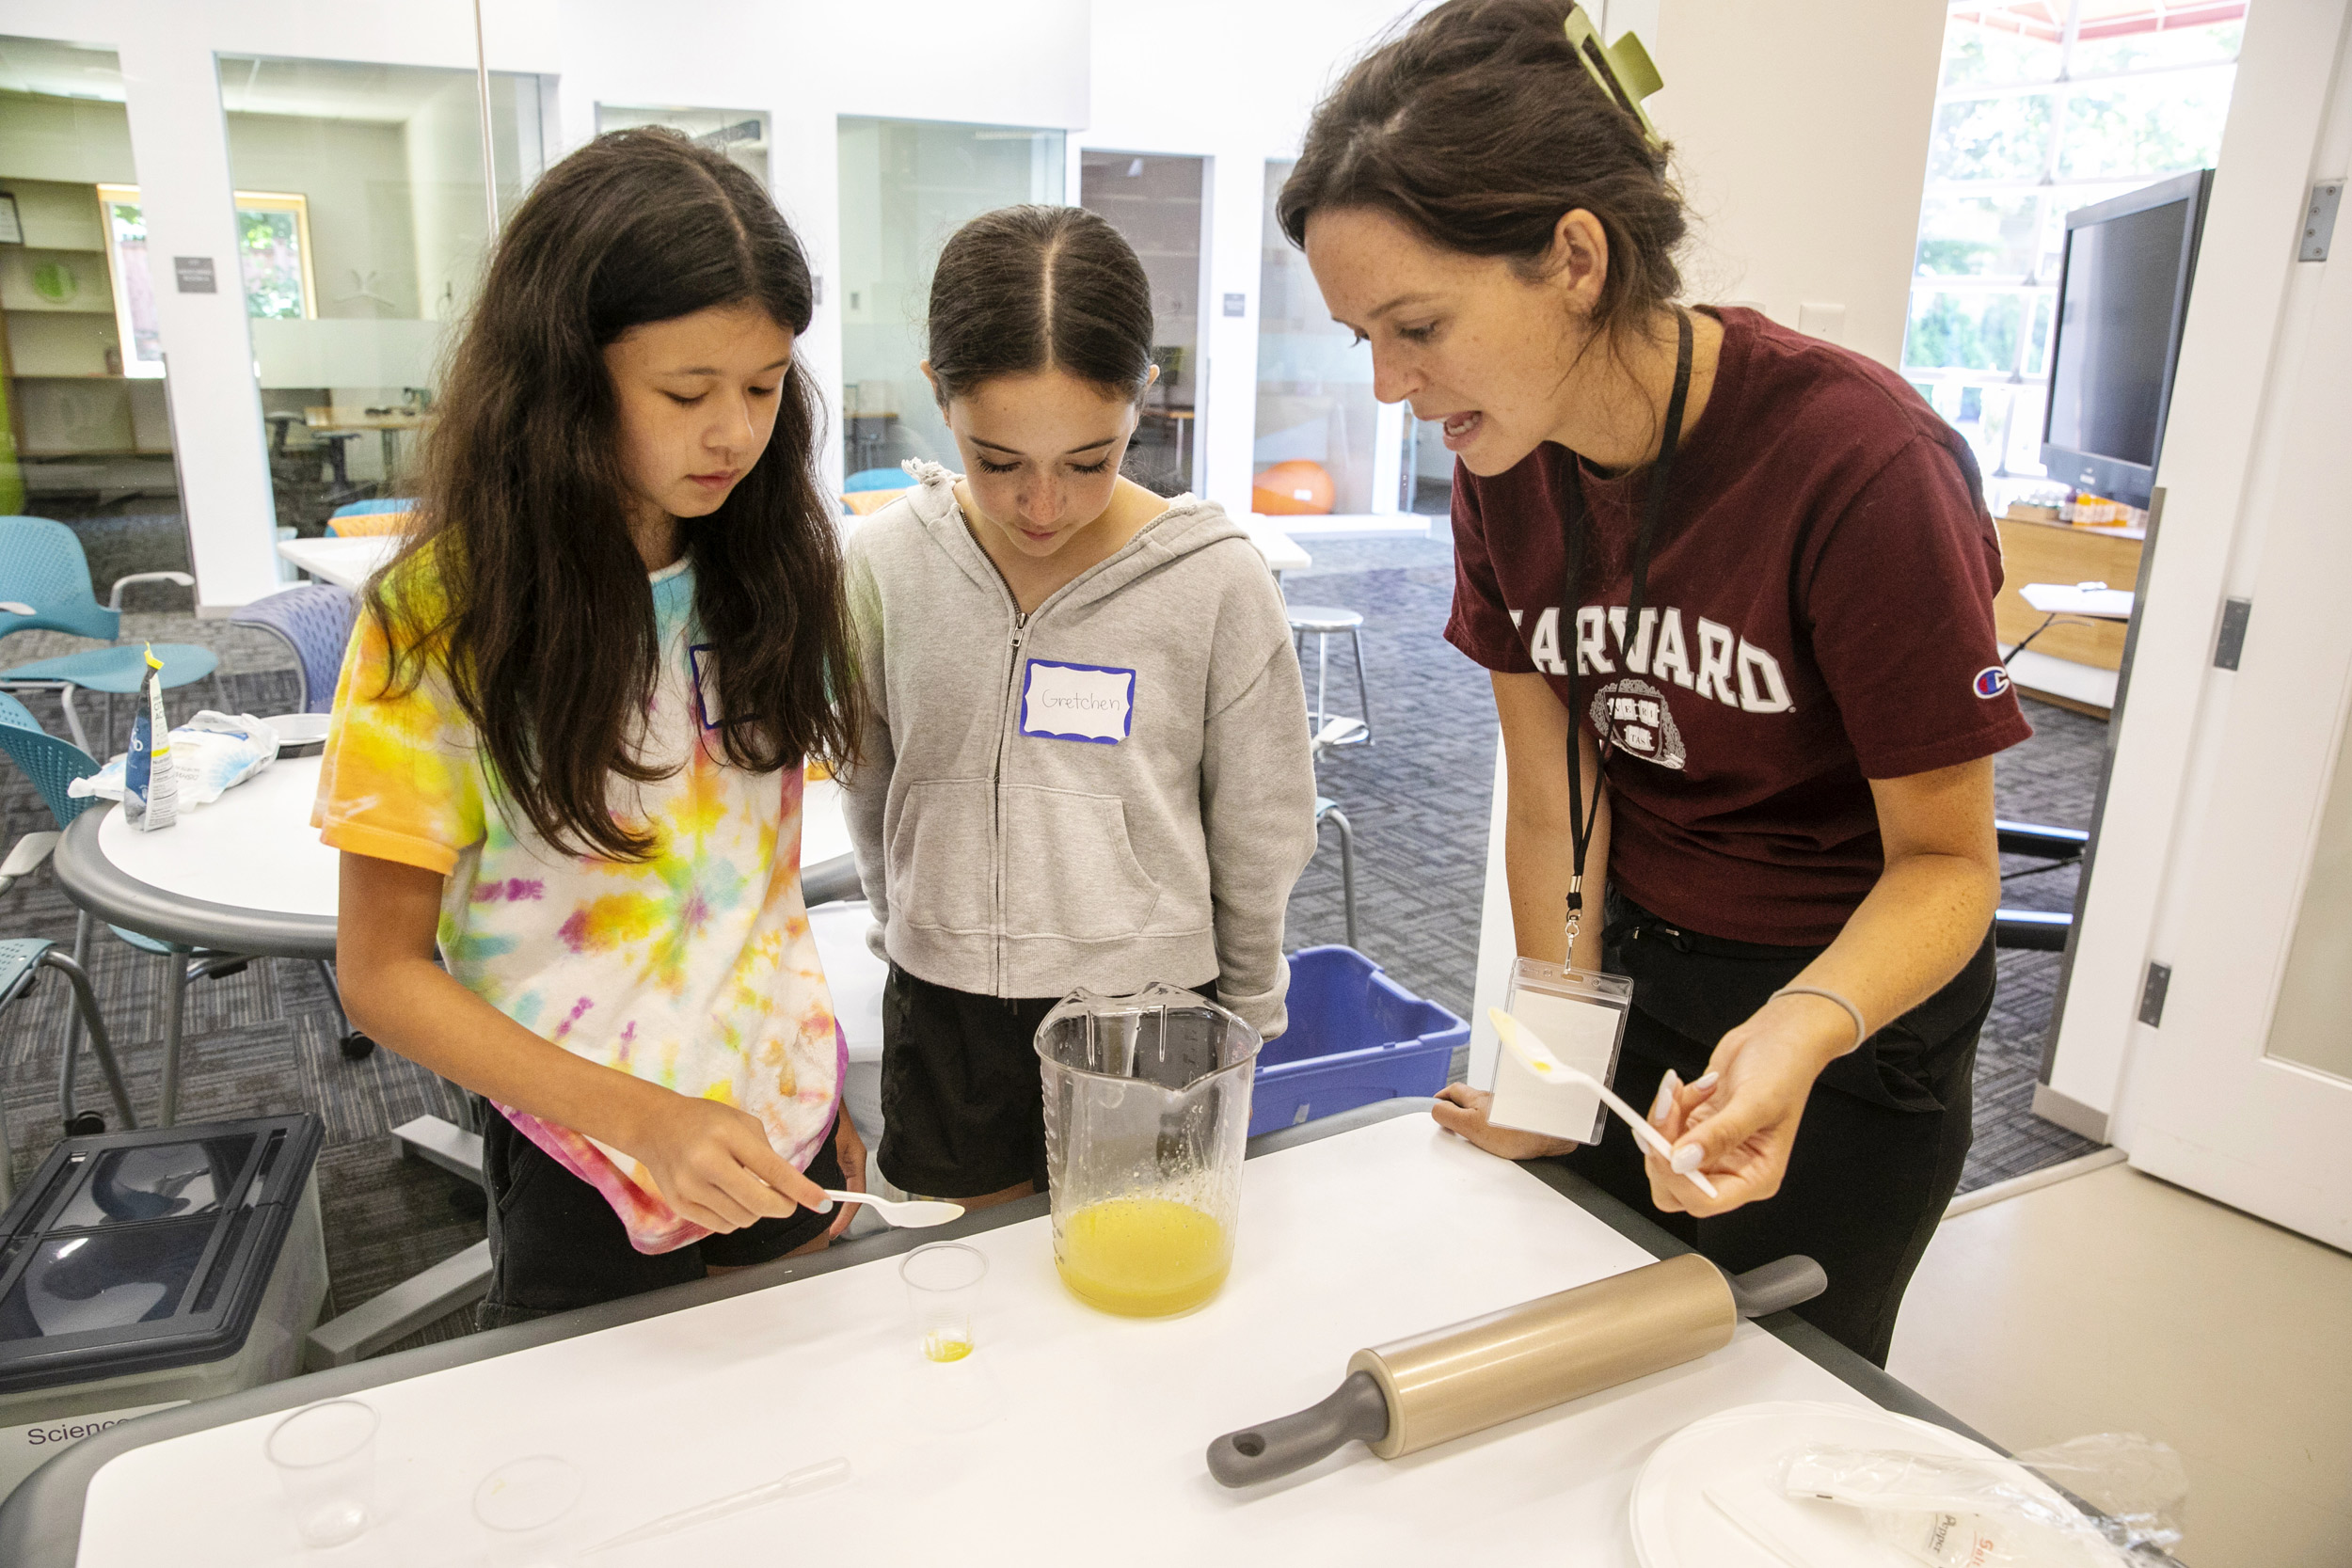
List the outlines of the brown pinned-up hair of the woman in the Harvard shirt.
<svg viewBox="0 0 2352 1568">
<path fill-rule="evenodd" d="M 1682 294 L 1672 148 L 1595 82 L 1569 0 L 1449 0 L 1359 59 L 1315 108 L 1275 202 L 1291 244 L 1322 207 L 1385 212 L 1430 244 L 1536 270 L 1583 207 L 1609 237 L 1590 327 L 1651 331 Z"/>
</svg>

